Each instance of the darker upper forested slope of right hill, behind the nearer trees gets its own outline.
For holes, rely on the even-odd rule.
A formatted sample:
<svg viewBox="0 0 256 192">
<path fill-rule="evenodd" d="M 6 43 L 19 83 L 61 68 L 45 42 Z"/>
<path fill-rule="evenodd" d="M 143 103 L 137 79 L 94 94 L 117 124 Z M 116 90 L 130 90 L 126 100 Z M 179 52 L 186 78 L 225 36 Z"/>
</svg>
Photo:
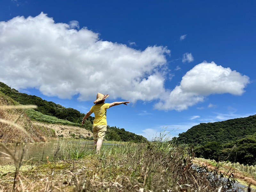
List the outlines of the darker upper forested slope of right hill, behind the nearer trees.
<svg viewBox="0 0 256 192">
<path fill-rule="evenodd" d="M 179 134 L 181 143 L 202 145 L 207 142 L 228 143 L 242 139 L 256 132 L 256 115 L 229 119 L 215 123 L 200 123 L 193 126 L 187 132 Z"/>
</svg>

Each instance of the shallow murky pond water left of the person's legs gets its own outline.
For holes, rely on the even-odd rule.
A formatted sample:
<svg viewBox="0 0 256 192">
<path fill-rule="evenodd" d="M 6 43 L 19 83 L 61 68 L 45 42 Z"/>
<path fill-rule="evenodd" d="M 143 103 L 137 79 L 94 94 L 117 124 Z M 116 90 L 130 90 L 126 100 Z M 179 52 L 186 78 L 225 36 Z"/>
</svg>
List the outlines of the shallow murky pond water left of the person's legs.
<svg viewBox="0 0 256 192">
<path fill-rule="evenodd" d="M 20 158 L 23 154 L 24 160 L 31 162 L 42 161 L 46 162 L 51 156 L 54 156 L 55 151 L 61 146 L 81 146 L 92 150 L 93 141 L 84 140 L 49 140 L 46 143 L 28 143 L 28 144 L 5 144 L 5 147 L 15 154 L 16 157 Z M 24 152 L 23 152 L 24 150 Z M 6 153 L 6 150 L 0 146 L 0 152 Z M 14 161 L 11 156 L 0 153 L 0 165 L 13 164 Z"/>
</svg>

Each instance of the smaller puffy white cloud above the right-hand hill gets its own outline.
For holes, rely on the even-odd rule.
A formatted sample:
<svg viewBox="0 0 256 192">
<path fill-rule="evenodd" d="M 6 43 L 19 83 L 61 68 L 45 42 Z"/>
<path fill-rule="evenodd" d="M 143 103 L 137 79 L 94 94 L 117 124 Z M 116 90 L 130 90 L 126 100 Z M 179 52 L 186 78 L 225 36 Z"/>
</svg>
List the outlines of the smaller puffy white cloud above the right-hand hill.
<svg viewBox="0 0 256 192">
<path fill-rule="evenodd" d="M 210 94 L 241 95 L 248 83 L 248 76 L 218 66 L 214 62 L 203 62 L 188 71 L 182 77 L 180 85 L 170 93 L 166 92 L 155 108 L 181 111 L 204 101 Z"/>
</svg>

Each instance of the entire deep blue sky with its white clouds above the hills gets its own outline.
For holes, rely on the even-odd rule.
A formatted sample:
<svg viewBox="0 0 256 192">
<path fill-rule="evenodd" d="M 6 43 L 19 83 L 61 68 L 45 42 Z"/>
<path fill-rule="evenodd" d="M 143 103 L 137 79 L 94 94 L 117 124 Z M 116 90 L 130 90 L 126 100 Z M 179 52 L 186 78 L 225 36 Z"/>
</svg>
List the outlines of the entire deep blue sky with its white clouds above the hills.
<svg viewBox="0 0 256 192">
<path fill-rule="evenodd" d="M 255 1 L 0 2 L 0 81 L 152 139 L 255 115 Z"/>
</svg>

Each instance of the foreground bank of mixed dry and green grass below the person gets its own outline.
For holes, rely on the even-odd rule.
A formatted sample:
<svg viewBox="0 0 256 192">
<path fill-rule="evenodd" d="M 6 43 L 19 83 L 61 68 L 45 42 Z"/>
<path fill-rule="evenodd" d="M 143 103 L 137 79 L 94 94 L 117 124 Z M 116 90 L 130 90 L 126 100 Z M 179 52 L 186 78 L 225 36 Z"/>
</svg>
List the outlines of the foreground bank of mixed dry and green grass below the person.
<svg viewBox="0 0 256 192">
<path fill-rule="evenodd" d="M 167 150 L 162 146 L 169 146 Z M 235 180 L 224 181 L 207 166 L 193 168 L 193 156 L 174 143 L 159 141 L 103 145 L 79 157 L 83 146 L 62 144 L 55 158 L 19 171 L 16 191 L 232 191 Z M 74 152 L 71 152 L 74 149 Z M 62 159 L 56 156 L 63 154 Z M 72 157 L 72 154 L 76 154 Z M 78 159 L 78 160 L 76 160 Z M 217 168 L 218 169 L 218 168 Z M 0 171 L 1 172 L 1 171 Z M 3 175 L 4 173 L 1 173 Z M 11 191 L 14 173 L 0 178 L 0 191 Z M 232 181 L 232 182 L 231 182 Z M 47 189 L 47 190 L 46 190 Z M 235 191 L 235 189 L 233 190 Z"/>
</svg>

